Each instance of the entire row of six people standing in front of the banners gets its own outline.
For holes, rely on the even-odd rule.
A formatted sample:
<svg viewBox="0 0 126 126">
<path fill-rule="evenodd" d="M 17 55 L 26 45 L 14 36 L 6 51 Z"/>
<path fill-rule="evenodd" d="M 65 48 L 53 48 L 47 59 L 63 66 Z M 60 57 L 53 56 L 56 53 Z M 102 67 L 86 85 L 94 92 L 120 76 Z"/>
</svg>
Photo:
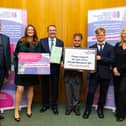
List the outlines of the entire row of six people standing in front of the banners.
<svg viewBox="0 0 126 126">
<path fill-rule="evenodd" d="M 0 28 L 1 28 L 0 22 Z M 17 42 L 14 52 L 15 67 L 15 110 L 14 119 L 20 121 L 19 106 L 24 92 L 27 88 L 27 110 L 26 115 L 32 116 L 32 100 L 34 95 L 34 85 L 39 84 L 37 75 L 19 75 L 18 74 L 18 54 L 20 52 L 41 52 L 51 54 L 52 42 L 53 46 L 64 48 L 62 40 L 56 36 L 56 26 L 49 25 L 47 27 L 48 36 L 38 39 L 37 31 L 33 25 L 27 25 L 24 36 Z M 110 80 L 113 78 L 115 91 L 115 108 L 117 121 L 123 121 L 126 117 L 126 28 L 121 31 L 121 40 L 115 46 L 106 42 L 106 31 L 104 28 L 97 28 L 96 44 L 90 48 L 96 48 L 96 69 L 88 71 L 89 84 L 87 91 L 87 99 L 83 118 L 88 119 L 91 114 L 91 108 L 94 95 L 99 86 L 99 100 L 97 104 L 97 114 L 99 118 L 104 118 L 104 106 L 106 102 L 107 91 Z M 73 35 L 72 48 L 81 48 L 82 34 L 75 33 Z M 11 68 L 9 37 L 0 34 L 0 87 L 2 87 L 4 77 L 9 75 Z M 42 75 L 42 107 L 40 112 L 45 112 L 49 108 L 54 114 L 58 114 L 58 82 L 60 65 L 63 67 L 63 57 L 61 64 L 50 63 L 50 75 Z M 70 115 L 73 111 L 75 115 L 80 115 L 80 94 L 83 83 L 82 70 L 64 70 L 64 85 L 66 96 L 65 115 Z M 51 86 L 51 87 L 50 87 Z M 0 88 L 1 89 L 1 88 Z M 51 91 L 50 91 L 51 89 Z M 51 95 L 50 95 L 51 92 Z M 51 96 L 51 98 L 50 98 Z M 3 119 L 0 115 L 0 119 Z"/>
</svg>

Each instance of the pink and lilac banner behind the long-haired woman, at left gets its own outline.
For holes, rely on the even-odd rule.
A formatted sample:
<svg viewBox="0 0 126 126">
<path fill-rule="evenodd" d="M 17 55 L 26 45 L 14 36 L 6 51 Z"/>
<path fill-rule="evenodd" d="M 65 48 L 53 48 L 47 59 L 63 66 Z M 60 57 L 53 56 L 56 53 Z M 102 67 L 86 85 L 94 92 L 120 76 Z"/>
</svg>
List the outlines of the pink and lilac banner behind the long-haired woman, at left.
<svg viewBox="0 0 126 126">
<path fill-rule="evenodd" d="M 25 26 L 27 24 L 26 10 L 0 8 L 0 20 L 2 21 L 1 32 L 10 37 L 11 59 L 13 64 L 13 53 L 18 39 L 23 35 Z M 15 83 L 14 83 L 14 70 L 12 71 L 9 79 L 4 82 L 3 88 L 0 91 L 0 110 L 14 108 L 15 104 Z M 26 105 L 25 94 L 22 98 L 21 107 Z"/>
</svg>

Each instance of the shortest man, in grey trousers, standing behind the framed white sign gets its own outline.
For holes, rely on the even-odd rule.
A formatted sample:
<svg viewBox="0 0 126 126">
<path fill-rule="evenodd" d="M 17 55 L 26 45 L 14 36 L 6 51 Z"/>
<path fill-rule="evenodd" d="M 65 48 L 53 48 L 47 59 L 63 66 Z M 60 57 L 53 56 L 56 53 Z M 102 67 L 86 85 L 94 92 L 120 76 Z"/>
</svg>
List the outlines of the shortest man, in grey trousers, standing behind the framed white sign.
<svg viewBox="0 0 126 126">
<path fill-rule="evenodd" d="M 73 35 L 73 48 L 81 48 L 82 34 Z M 73 111 L 75 115 L 80 115 L 80 94 L 82 87 L 82 70 L 64 70 L 64 84 L 66 95 L 65 115 L 70 115 Z"/>
</svg>

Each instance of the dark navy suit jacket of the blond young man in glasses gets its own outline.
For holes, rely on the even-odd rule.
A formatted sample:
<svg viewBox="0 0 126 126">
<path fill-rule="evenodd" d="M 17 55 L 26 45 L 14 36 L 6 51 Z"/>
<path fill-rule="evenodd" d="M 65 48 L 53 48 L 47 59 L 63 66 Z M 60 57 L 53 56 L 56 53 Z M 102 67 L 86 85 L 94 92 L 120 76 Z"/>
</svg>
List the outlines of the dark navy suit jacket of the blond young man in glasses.
<svg viewBox="0 0 126 126">
<path fill-rule="evenodd" d="M 101 55 L 102 58 L 96 63 L 96 73 L 90 75 L 96 75 L 95 77 L 98 75 L 103 79 L 110 79 L 114 63 L 114 47 L 106 42 L 102 54 L 100 54 L 97 44 L 92 45 L 90 48 L 96 48 L 97 55 Z"/>
</svg>

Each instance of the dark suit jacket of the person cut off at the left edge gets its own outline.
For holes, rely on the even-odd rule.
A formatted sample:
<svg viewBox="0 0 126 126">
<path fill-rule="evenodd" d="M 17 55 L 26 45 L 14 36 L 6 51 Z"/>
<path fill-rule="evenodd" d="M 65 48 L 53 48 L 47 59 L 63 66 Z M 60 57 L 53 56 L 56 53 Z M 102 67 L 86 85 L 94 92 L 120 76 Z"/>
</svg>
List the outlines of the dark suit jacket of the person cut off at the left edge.
<svg viewBox="0 0 126 126">
<path fill-rule="evenodd" d="M 10 40 L 9 37 L 0 34 L 0 71 L 4 73 L 11 69 Z"/>
</svg>

